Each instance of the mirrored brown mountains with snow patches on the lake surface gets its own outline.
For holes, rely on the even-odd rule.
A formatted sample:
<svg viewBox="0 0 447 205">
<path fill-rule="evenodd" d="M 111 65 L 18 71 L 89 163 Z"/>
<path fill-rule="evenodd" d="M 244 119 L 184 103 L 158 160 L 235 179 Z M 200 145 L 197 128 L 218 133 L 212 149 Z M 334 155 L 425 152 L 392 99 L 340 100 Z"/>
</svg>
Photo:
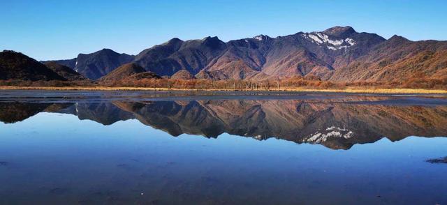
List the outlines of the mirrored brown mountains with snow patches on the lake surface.
<svg viewBox="0 0 447 205">
<path fill-rule="evenodd" d="M 73 114 L 106 126 L 137 119 L 173 136 L 218 137 L 226 132 L 330 149 L 350 149 L 383 137 L 398 141 L 446 135 L 447 106 L 370 103 L 384 99 L 0 102 L 0 121 L 16 123 L 39 112 Z"/>
</svg>

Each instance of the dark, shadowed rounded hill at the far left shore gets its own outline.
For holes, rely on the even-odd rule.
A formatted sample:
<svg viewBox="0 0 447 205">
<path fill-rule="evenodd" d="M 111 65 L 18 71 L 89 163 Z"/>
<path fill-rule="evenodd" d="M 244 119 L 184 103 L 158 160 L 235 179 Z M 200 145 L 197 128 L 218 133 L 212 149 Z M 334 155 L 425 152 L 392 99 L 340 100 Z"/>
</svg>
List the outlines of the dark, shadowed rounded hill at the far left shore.
<svg viewBox="0 0 447 205">
<path fill-rule="evenodd" d="M 42 63 L 20 52 L 0 52 L 0 79 L 66 80 Z"/>
</svg>

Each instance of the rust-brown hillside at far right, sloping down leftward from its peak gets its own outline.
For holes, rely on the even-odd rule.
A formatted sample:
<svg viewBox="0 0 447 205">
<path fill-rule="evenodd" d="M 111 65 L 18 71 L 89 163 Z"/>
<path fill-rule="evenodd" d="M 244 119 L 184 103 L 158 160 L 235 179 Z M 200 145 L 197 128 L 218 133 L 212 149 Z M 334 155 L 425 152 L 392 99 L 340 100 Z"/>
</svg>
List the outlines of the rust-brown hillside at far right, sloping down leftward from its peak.
<svg viewBox="0 0 447 205">
<path fill-rule="evenodd" d="M 365 56 L 325 76 L 325 79 L 377 82 L 428 77 L 447 77 L 447 42 L 413 42 L 393 36 Z"/>
</svg>

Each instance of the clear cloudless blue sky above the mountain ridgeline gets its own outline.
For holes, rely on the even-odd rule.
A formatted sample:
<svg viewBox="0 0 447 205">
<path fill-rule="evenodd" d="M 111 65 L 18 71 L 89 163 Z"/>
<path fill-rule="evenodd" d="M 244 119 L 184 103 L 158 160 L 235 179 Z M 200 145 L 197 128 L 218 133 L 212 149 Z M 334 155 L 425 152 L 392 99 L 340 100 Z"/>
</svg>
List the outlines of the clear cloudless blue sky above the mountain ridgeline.
<svg viewBox="0 0 447 205">
<path fill-rule="evenodd" d="M 170 38 L 284 36 L 353 26 L 384 38 L 447 40 L 447 1 L 0 1 L 0 50 L 71 59 L 138 54 Z"/>
</svg>

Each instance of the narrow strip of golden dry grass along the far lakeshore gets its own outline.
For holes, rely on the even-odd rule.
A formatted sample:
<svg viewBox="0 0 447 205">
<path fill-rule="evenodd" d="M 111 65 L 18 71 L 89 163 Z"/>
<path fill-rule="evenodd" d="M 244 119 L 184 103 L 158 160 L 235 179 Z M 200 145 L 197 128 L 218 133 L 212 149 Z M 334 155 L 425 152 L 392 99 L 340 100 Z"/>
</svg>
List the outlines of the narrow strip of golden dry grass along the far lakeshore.
<svg viewBox="0 0 447 205">
<path fill-rule="evenodd" d="M 374 87 L 346 87 L 344 89 L 309 89 L 304 87 L 285 87 L 281 89 L 168 89 L 147 87 L 109 87 L 109 86 L 0 86 L 0 90 L 45 90 L 45 91 L 274 91 L 274 92 L 312 92 L 312 93 L 376 93 L 376 94 L 447 94 L 441 89 L 383 89 Z"/>
</svg>

